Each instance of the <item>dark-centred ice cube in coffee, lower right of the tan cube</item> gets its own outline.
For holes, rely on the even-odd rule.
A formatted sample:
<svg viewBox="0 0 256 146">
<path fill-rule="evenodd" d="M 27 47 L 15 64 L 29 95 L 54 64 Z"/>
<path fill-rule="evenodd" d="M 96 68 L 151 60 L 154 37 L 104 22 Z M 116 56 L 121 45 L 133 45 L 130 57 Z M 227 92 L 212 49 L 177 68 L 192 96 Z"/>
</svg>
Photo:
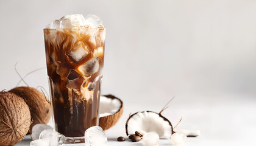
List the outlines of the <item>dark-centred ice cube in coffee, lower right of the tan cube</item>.
<svg viewBox="0 0 256 146">
<path fill-rule="evenodd" d="M 79 66 L 79 71 L 84 74 L 85 77 L 90 77 L 95 72 L 99 71 L 99 57 L 92 58 L 87 63 Z"/>
</svg>

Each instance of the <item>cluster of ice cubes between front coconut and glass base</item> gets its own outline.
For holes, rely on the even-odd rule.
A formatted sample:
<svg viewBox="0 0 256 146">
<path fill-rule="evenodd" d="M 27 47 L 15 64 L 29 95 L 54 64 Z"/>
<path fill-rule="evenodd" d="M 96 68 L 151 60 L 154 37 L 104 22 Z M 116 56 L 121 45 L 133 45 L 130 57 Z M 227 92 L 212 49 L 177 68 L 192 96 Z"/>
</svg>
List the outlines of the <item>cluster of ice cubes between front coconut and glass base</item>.
<svg viewBox="0 0 256 146">
<path fill-rule="evenodd" d="M 65 142 L 66 137 L 53 130 L 46 124 L 37 124 L 32 128 L 32 137 L 35 141 L 30 146 L 58 146 Z"/>
</svg>

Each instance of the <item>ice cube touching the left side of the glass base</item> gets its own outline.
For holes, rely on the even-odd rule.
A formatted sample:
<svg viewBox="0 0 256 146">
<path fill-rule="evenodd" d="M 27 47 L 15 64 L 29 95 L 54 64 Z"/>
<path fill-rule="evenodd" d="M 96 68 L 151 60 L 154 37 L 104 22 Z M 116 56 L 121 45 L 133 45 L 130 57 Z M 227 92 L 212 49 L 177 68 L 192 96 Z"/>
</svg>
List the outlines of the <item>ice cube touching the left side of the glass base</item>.
<svg viewBox="0 0 256 146">
<path fill-rule="evenodd" d="M 41 132 L 39 139 L 49 139 L 49 146 L 62 145 L 66 137 L 54 130 L 48 129 Z"/>
</svg>

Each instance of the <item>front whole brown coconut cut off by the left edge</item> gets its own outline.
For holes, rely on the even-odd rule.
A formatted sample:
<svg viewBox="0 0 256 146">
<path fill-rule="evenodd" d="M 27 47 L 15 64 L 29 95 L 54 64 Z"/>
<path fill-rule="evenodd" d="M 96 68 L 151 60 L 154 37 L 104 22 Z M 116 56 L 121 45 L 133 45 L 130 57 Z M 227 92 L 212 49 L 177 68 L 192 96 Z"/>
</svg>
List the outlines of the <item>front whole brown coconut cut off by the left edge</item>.
<svg viewBox="0 0 256 146">
<path fill-rule="evenodd" d="M 29 131 L 29 106 L 12 92 L 0 92 L 0 145 L 14 145 Z"/>
</svg>

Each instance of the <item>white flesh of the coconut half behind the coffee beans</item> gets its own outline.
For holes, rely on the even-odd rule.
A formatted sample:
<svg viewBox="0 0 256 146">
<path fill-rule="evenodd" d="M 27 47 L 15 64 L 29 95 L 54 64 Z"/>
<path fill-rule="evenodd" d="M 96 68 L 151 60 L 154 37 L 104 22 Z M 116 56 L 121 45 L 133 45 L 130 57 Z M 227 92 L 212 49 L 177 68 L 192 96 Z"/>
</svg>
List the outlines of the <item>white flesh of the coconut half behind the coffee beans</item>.
<svg viewBox="0 0 256 146">
<path fill-rule="evenodd" d="M 135 131 L 143 130 L 146 133 L 155 131 L 159 137 L 170 138 L 172 127 L 169 121 L 158 113 L 152 111 L 138 112 L 130 116 L 127 121 L 127 134 L 134 134 Z"/>
</svg>

